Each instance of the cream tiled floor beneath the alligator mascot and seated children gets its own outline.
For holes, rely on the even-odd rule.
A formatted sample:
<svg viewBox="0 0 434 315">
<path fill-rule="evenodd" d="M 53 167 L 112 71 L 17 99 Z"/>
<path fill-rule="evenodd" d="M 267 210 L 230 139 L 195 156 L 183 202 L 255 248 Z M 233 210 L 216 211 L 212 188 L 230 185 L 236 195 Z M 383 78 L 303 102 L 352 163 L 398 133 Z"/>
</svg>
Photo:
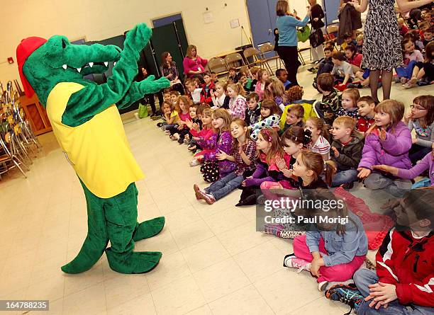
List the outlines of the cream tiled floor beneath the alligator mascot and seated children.
<svg viewBox="0 0 434 315">
<path fill-rule="evenodd" d="M 306 98 L 312 74 L 301 71 Z M 392 96 L 410 105 L 430 87 Z M 432 91 L 432 90 L 431 90 Z M 369 93 L 367 89 L 362 94 Z M 40 137 L 43 152 L 24 179 L 0 182 L 0 299 L 49 299 L 50 314 L 343 314 L 347 307 L 316 290 L 308 273 L 282 267 L 291 241 L 255 231 L 255 207 L 234 207 L 239 193 L 214 205 L 197 202 L 185 145 L 171 142 L 149 118 L 126 120 L 126 134 L 143 168 L 137 183 L 139 220 L 165 215 L 167 224 L 136 251 L 162 251 L 145 275 L 114 273 L 103 256 L 87 273 L 66 275 L 87 233 L 82 188 L 55 139 Z M 9 312 L 8 314 L 15 314 Z"/>
</svg>

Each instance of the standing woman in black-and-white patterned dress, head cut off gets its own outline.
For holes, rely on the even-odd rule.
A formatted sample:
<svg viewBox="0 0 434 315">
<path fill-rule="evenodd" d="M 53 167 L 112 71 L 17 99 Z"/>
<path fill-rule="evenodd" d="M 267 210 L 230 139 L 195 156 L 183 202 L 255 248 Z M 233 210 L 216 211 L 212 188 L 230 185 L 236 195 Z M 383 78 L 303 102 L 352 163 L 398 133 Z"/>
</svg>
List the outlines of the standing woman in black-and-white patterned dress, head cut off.
<svg viewBox="0 0 434 315">
<path fill-rule="evenodd" d="M 372 98 L 378 102 L 377 87 L 380 74 L 382 75 L 383 99 L 390 98 L 392 69 L 403 64 L 401 52 L 401 39 L 398 22 L 394 9 L 395 0 L 352 0 L 349 2 L 359 12 L 367 10 L 362 68 L 369 69 L 369 85 Z M 396 0 L 401 11 L 410 11 L 433 0 Z"/>
</svg>

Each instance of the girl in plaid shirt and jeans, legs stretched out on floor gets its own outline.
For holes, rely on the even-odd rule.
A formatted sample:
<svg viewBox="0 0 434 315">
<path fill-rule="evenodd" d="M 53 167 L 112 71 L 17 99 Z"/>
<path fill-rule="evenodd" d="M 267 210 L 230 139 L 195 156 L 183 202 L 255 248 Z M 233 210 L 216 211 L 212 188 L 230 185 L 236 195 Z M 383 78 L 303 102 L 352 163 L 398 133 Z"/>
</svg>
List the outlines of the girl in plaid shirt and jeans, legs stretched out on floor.
<svg viewBox="0 0 434 315">
<path fill-rule="evenodd" d="M 216 154 L 216 158 L 219 161 L 228 160 L 235 162 L 235 171 L 212 183 L 204 190 L 200 190 L 196 184 L 193 186 L 196 199 L 203 199 L 208 205 L 212 205 L 216 200 L 237 189 L 244 179 L 247 176 L 251 176 L 256 169 L 256 143 L 252 139 L 249 139 L 249 132 L 245 121 L 235 118 L 230 123 L 230 134 L 233 137 L 233 147 L 230 155 L 221 151 Z"/>
</svg>

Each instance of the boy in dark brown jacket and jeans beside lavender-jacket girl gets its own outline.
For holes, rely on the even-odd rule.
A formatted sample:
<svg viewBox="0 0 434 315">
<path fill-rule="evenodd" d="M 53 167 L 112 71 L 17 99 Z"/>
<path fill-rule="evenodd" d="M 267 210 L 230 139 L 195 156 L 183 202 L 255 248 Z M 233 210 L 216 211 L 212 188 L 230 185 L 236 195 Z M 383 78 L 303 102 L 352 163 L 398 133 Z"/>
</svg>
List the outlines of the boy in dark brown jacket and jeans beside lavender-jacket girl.
<svg viewBox="0 0 434 315">
<path fill-rule="evenodd" d="M 331 133 L 331 161 L 335 163 L 336 174 L 331 187 L 342 186 L 351 189 L 357 181 L 357 166 L 362 159 L 363 135 L 356 130 L 354 118 L 347 116 L 336 118 Z"/>
</svg>

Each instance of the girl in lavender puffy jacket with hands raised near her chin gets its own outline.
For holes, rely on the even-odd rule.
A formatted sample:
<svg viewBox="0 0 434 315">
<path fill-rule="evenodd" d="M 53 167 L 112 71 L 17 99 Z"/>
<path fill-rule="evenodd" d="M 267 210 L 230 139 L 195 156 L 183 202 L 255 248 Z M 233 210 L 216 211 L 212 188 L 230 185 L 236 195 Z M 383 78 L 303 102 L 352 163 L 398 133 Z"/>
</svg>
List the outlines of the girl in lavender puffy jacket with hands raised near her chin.
<svg viewBox="0 0 434 315">
<path fill-rule="evenodd" d="M 365 179 L 365 186 L 372 190 L 386 191 L 401 197 L 411 188 L 411 181 L 374 171 L 373 166 L 384 164 L 397 168 L 411 168 L 408 150 L 411 148 L 411 132 L 401 122 L 404 104 L 399 101 L 382 101 L 375 108 L 375 123 L 367 131 L 362 151 L 358 177 Z"/>
</svg>

